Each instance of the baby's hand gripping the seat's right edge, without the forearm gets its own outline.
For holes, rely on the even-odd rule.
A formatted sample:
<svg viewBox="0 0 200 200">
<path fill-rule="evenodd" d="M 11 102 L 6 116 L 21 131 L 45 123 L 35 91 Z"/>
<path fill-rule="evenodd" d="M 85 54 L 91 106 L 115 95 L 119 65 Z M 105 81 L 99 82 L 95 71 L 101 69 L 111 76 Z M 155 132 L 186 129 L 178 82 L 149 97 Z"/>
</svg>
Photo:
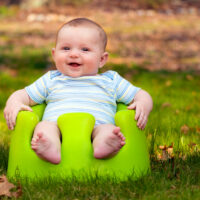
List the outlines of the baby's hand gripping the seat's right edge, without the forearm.
<svg viewBox="0 0 200 200">
<path fill-rule="evenodd" d="M 147 124 L 150 113 L 149 109 L 145 105 L 145 102 L 135 101 L 128 106 L 128 109 L 135 110 L 135 120 L 137 120 L 137 126 L 143 130 Z"/>
</svg>

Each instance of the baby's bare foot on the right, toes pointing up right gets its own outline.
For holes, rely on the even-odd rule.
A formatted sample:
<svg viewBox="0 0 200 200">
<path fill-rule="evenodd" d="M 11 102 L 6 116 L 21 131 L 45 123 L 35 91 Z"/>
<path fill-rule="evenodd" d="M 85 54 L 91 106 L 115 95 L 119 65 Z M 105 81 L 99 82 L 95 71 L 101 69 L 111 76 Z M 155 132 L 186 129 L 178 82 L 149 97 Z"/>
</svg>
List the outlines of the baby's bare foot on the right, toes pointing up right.
<svg viewBox="0 0 200 200">
<path fill-rule="evenodd" d="M 94 157 L 98 159 L 115 155 L 125 145 L 125 137 L 119 127 L 115 127 L 106 137 L 98 139 L 102 140 L 94 147 Z"/>
</svg>

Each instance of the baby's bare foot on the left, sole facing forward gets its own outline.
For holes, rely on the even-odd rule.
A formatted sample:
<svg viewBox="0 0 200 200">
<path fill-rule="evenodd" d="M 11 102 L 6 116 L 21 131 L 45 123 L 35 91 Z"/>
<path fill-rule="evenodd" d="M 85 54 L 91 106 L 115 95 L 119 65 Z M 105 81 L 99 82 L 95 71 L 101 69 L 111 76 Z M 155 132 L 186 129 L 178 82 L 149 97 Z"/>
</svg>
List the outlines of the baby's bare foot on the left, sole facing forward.
<svg viewBox="0 0 200 200">
<path fill-rule="evenodd" d="M 38 133 L 32 138 L 31 147 L 40 158 L 53 164 L 60 163 L 61 156 L 58 148 L 43 133 Z"/>
</svg>

